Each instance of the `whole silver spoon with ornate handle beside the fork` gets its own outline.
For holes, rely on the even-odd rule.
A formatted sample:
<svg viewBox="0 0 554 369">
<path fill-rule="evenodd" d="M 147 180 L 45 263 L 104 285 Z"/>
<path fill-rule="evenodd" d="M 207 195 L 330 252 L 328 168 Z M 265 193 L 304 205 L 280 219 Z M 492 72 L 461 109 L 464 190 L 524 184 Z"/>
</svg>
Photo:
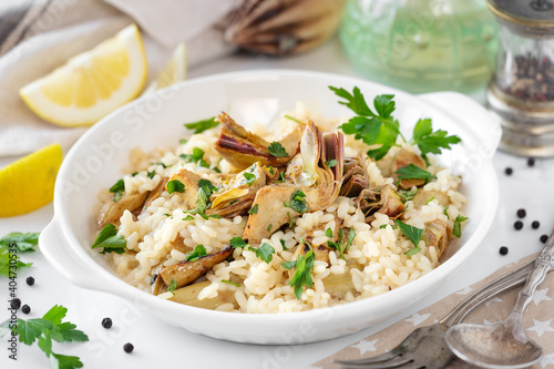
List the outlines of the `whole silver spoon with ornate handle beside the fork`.
<svg viewBox="0 0 554 369">
<path fill-rule="evenodd" d="M 445 340 L 459 358 L 483 368 L 525 368 L 537 362 L 543 349 L 523 332 L 523 310 L 547 270 L 554 267 L 554 233 L 535 260 L 535 268 L 506 319 L 492 326 L 461 324 L 447 331 Z"/>
</svg>

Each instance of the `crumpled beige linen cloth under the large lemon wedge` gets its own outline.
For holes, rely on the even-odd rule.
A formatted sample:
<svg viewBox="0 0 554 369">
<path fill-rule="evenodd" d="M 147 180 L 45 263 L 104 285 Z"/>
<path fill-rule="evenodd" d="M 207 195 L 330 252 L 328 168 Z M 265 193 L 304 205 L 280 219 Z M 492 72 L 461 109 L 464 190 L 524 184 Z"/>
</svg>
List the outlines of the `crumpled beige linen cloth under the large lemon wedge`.
<svg viewBox="0 0 554 369">
<path fill-rule="evenodd" d="M 178 42 L 188 65 L 229 53 L 217 29 L 240 0 L 1 0 L 0 157 L 59 142 L 64 150 L 85 131 L 45 123 L 21 101 L 27 83 L 90 50 L 131 22 L 143 31 L 148 76 L 157 75 Z"/>
</svg>

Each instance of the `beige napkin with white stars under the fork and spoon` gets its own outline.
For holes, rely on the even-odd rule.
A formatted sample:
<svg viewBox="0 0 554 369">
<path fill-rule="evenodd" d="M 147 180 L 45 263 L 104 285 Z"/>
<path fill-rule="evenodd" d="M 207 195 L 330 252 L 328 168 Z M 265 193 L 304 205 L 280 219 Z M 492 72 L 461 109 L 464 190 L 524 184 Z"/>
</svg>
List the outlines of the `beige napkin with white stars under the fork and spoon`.
<svg viewBox="0 0 554 369">
<path fill-rule="evenodd" d="M 507 265 L 496 270 L 485 279 L 459 290 L 439 303 L 408 317 L 399 322 L 381 330 L 361 341 L 351 345 L 330 357 L 312 365 L 312 368 L 340 368 L 334 360 L 353 360 L 363 357 L 372 357 L 383 353 L 394 348 L 416 328 L 430 326 L 442 319 L 459 303 L 470 296 L 471 293 L 486 285 L 488 283 L 514 270 L 536 255 L 524 258 L 517 263 Z M 493 324 L 504 319 L 512 310 L 517 294 L 521 288 L 512 288 L 489 299 L 479 306 L 464 320 L 464 322 Z M 533 369 L 554 368 L 554 273 L 546 276 L 545 280 L 537 287 L 533 301 L 529 304 L 523 316 L 523 327 L 525 334 L 535 342 L 541 345 L 544 350 L 542 360 L 533 366 Z M 459 359 L 452 361 L 447 368 L 473 368 Z"/>
</svg>

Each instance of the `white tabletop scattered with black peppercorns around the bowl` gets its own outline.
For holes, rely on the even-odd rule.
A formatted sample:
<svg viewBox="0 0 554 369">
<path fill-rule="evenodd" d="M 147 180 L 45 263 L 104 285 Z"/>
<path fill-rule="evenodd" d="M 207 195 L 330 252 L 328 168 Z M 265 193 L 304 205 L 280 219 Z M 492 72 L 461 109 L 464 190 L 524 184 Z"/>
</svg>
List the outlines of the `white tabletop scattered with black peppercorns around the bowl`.
<svg viewBox="0 0 554 369">
<path fill-rule="evenodd" d="M 349 65 L 337 40 L 307 54 L 288 59 L 235 55 L 214 61 L 189 72 L 189 78 L 249 70 L 249 69 L 301 69 L 316 70 L 348 75 L 358 75 Z M 475 94 L 481 100 L 481 93 Z M 14 160 L 14 158 L 13 158 Z M 0 166 L 12 160 L 0 161 Z M 358 334 L 329 341 L 300 346 L 255 346 L 219 341 L 197 336 L 186 330 L 174 328 L 162 320 L 142 311 L 132 303 L 115 296 L 90 291 L 69 284 L 58 274 L 40 254 L 24 254 L 24 262 L 32 262 L 31 268 L 20 271 L 18 297 L 28 304 L 32 311 L 21 318 L 39 318 L 53 305 L 68 307 L 68 318 L 90 337 L 84 344 L 55 344 L 54 351 L 79 356 L 85 368 L 309 368 L 335 351 L 387 327 L 388 325 L 417 312 L 424 306 L 468 286 L 499 267 L 515 262 L 521 257 L 536 253 L 542 244 L 538 238 L 550 234 L 554 225 L 554 158 L 537 158 L 533 167 L 526 158 L 496 153 L 494 166 L 500 182 L 500 207 L 495 222 L 481 248 L 432 296 L 420 301 L 411 309 L 388 319 L 379 326 Z M 514 173 L 504 174 L 510 166 Z M 1 205 L 0 205 L 1 206 Z M 524 228 L 515 230 L 516 211 L 525 208 Z M 10 232 L 39 232 L 53 215 L 52 205 L 48 205 L 28 215 L 0 218 L 0 236 Z M 538 229 L 531 228 L 532 221 L 540 221 Z M 507 246 L 506 256 L 499 254 L 501 246 Z M 25 278 L 33 276 L 34 286 L 25 284 Z M 8 318 L 8 281 L 0 279 L 0 299 L 2 308 L 0 321 Z M 114 325 L 104 329 L 101 320 L 111 317 Z M 122 347 L 132 342 L 133 353 L 127 355 Z M 48 359 L 37 347 L 20 345 L 18 360 L 8 358 L 7 337 L 0 339 L 0 368 L 45 368 Z"/>
</svg>

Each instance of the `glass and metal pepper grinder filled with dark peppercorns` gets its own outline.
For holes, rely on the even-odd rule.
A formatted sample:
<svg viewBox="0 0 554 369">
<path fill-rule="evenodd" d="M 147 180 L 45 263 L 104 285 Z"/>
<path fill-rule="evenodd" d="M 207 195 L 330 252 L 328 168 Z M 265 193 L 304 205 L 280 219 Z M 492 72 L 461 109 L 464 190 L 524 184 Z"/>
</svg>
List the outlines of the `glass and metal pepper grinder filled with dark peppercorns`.
<svg viewBox="0 0 554 369">
<path fill-rule="evenodd" d="M 501 24 L 486 100 L 502 119 L 501 150 L 554 156 L 554 4 L 486 0 Z"/>
</svg>

